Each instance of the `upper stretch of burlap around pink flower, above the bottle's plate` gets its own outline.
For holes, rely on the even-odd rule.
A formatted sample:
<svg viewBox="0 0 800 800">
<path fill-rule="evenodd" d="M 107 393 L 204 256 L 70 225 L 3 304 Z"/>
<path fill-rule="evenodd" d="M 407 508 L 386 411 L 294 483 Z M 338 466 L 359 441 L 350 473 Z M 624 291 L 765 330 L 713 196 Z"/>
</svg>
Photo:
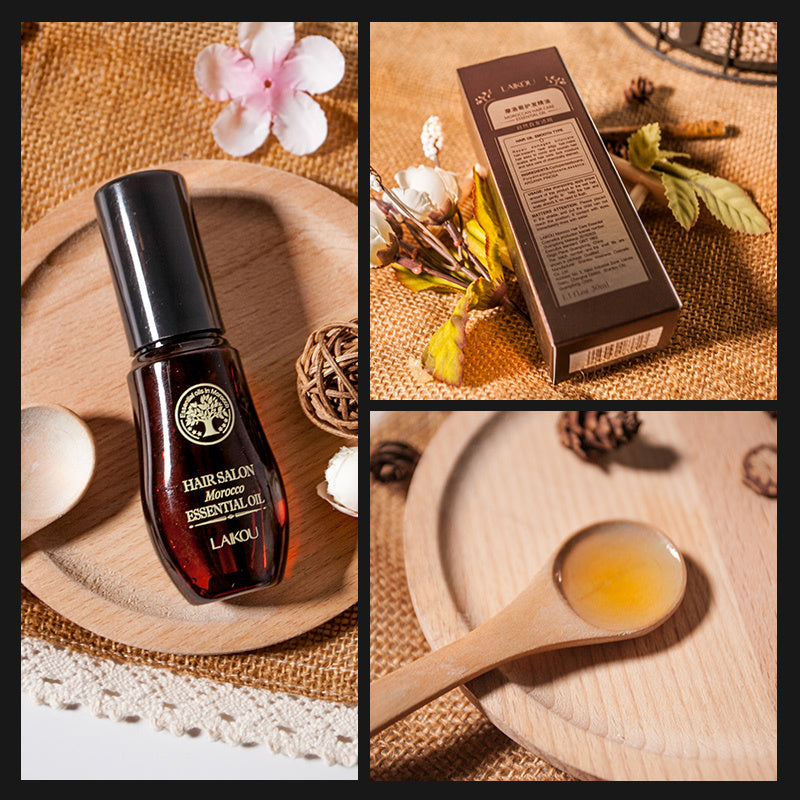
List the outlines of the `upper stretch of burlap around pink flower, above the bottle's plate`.
<svg viewBox="0 0 800 800">
<path fill-rule="evenodd" d="M 236 22 L 23 22 L 21 204 L 26 230 L 94 183 L 152 164 L 230 158 L 211 125 L 224 108 L 203 95 L 194 62 L 207 45 L 238 46 Z M 274 136 L 237 161 L 308 178 L 356 200 L 358 25 L 298 22 L 297 39 L 327 36 L 342 81 L 315 100 L 328 136 L 307 156 Z"/>
</svg>

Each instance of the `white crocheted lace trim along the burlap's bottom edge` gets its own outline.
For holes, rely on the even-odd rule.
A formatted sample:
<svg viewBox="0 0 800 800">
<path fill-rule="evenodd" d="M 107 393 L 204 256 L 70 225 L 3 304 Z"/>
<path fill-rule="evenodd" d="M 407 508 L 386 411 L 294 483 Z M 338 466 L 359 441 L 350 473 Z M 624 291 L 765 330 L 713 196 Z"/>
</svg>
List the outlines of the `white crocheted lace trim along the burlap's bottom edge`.
<svg viewBox="0 0 800 800">
<path fill-rule="evenodd" d="M 292 758 L 358 762 L 358 707 L 233 686 L 167 669 L 94 658 L 22 638 L 22 690 L 53 708 L 147 719 L 176 736 L 202 730 L 231 745 L 259 743 Z"/>
</svg>

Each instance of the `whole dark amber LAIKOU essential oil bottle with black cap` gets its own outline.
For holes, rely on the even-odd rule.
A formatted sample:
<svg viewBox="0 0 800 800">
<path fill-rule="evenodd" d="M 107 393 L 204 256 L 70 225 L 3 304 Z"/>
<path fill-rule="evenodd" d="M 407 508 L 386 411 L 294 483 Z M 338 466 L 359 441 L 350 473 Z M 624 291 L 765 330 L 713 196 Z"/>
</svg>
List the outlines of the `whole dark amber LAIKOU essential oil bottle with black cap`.
<svg viewBox="0 0 800 800">
<path fill-rule="evenodd" d="M 150 170 L 95 195 L 133 364 L 128 385 L 153 544 L 192 603 L 284 572 L 283 481 L 224 330 L 183 178 Z"/>
</svg>

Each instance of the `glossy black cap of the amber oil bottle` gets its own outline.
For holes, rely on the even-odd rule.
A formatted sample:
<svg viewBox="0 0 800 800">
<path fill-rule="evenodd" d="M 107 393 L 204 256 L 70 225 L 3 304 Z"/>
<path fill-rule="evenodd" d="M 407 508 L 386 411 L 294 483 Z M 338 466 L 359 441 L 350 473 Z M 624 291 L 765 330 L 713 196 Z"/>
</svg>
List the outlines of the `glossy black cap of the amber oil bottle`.
<svg viewBox="0 0 800 800">
<path fill-rule="evenodd" d="M 94 202 L 131 353 L 222 332 L 183 176 L 135 172 L 102 186 Z"/>
</svg>

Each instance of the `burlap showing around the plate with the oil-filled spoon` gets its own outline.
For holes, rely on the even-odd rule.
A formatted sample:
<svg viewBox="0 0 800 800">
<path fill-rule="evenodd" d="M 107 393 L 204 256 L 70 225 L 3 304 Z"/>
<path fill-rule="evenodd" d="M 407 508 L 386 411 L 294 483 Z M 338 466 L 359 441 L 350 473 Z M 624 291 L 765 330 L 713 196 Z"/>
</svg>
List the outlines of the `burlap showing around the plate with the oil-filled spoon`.
<svg viewBox="0 0 800 800">
<path fill-rule="evenodd" d="M 422 452 L 446 411 L 395 411 L 370 429 L 370 451 L 399 440 Z M 403 559 L 407 483 L 370 478 L 370 680 L 430 650 L 414 614 Z M 374 781 L 567 781 L 513 742 L 458 688 L 370 741 Z"/>
</svg>

